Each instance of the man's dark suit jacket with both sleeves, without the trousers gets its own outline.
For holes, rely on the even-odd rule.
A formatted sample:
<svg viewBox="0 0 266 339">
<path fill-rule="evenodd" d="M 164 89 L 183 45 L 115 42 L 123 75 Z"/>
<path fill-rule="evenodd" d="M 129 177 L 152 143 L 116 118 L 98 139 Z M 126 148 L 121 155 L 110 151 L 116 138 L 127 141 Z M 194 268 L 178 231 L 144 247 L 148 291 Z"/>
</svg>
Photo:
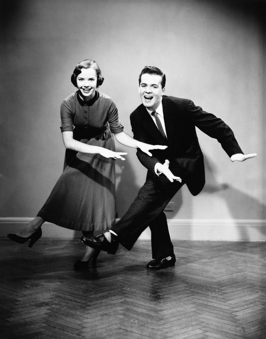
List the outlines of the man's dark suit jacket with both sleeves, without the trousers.
<svg viewBox="0 0 266 339">
<path fill-rule="evenodd" d="M 162 105 L 167 141 L 142 104 L 130 115 L 134 139 L 168 146 L 165 150 L 152 151 L 152 157 L 138 149 L 138 159 L 148 169 L 147 178 L 155 178 L 155 164 L 168 159 L 172 173 L 181 177 L 190 192 L 197 195 L 204 186 L 205 174 L 195 127 L 217 139 L 229 157 L 243 152 L 231 128 L 215 115 L 195 106 L 191 100 L 163 95 Z"/>
</svg>

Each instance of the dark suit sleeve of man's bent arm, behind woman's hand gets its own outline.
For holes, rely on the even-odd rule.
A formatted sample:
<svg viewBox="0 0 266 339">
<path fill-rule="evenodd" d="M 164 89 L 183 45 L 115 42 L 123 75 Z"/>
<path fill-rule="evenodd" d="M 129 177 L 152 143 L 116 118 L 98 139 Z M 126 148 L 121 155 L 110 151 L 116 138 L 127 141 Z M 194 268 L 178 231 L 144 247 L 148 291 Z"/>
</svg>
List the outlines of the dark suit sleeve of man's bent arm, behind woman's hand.
<svg viewBox="0 0 266 339">
<path fill-rule="evenodd" d="M 146 138 L 145 131 L 143 130 L 141 124 L 137 122 L 137 119 L 133 116 L 133 114 L 130 115 L 130 123 L 132 127 L 133 138 L 143 143 L 150 144 L 149 140 L 147 140 Z M 155 164 L 157 162 L 161 162 L 155 156 L 149 156 L 146 153 L 142 152 L 139 148 L 137 149 L 137 157 L 140 163 L 153 173 L 155 173 Z"/>
</svg>

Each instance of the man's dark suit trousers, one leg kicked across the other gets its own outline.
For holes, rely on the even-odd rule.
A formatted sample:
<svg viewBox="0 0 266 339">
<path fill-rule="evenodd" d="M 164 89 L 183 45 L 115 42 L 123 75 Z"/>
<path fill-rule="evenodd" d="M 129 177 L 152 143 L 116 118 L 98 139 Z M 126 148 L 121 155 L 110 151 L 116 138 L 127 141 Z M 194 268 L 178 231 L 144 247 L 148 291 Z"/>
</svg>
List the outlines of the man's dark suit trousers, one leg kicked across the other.
<svg viewBox="0 0 266 339">
<path fill-rule="evenodd" d="M 139 235 L 150 226 L 153 258 L 171 255 L 173 245 L 163 210 L 183 185 L 178 181 L 171 183 L 164 175 L 147 179 L 126 214 L 111 227 L 119 242 L 131 250 Z"/>
</svg>

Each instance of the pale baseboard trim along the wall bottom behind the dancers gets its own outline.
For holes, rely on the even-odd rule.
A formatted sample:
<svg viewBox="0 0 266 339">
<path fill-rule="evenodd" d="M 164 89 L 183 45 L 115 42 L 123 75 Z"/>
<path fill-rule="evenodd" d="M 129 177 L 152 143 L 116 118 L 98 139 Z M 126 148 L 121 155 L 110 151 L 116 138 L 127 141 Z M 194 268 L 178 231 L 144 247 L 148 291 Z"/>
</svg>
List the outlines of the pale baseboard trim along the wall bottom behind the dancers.
<svg viewBox="0 0 266 339">
<path fill-rule="evenodd" d="M 17 232 L 33 218 L 0 218 L 0 236 Z M 169 232 L 172 240 L 209 241 L 266 241 L 266 220 L 246 219 L 169 219 Z M 47 238 L 79 238 L 80 232 L 45 223 L 43 236 Z M 147 228 L 140 240 L 150 240 Z"/>
</svg>

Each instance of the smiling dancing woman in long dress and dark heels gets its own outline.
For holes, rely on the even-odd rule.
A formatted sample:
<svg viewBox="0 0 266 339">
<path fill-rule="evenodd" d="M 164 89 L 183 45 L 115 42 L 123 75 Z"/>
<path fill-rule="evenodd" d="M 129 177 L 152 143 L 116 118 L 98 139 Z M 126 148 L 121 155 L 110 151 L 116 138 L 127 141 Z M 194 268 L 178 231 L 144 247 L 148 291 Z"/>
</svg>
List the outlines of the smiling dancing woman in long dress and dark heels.
<svg viewBox="0 0 266 339">
<path fill-rule="evenodd" d="M 79 62 L 71 76 L 78 90 L 61 105 L 61 131 L 66 147 L 64 172 L 37 217 L 19 234 L 8 234 L 17 242 L 29 240 L 29 247 L 41 238 L 45 221 L 81 230 L 88 236 L 93 231 L 107 230 L 115 222 L 114 160 L 125 160 L 115 152 L 113 134 L 121 144 L 149 150 L 165 146 L 149 145 L 132 139 L 123 131 L 112 99 L 97 91 L 103 83 L 100 67 L 94 60 Z M 99 252 L 86 246 L 85 254 L 74 269 L 84 269 Z"/>
</svg>

